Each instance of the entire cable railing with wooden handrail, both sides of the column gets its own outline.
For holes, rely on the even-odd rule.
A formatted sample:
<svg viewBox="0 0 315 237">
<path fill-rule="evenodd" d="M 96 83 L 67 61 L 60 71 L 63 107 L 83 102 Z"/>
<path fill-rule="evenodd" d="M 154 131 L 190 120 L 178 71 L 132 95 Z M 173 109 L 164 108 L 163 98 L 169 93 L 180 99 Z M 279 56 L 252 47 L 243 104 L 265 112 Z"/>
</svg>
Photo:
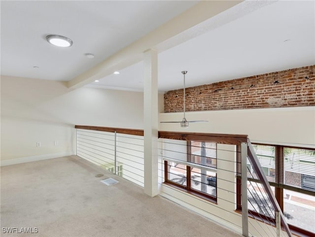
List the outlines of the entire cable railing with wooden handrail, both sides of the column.
<svg viewBox="0 0 315 237">
<path fill-rule="evenodd" d="M 78 156 L 144 186 L 142 130 L 75 127 Z M 244 236 L 291 236 L 247 135 L 159 131 L 158 137 L 161 196 L 221 221 L 234 230 L 242 229 Z M 241 157 L 242 163 L 237 157 Z M 255 177 L 262 184 L 254 188 L 254 195 L 252 186 L 247 183 L 248 158 Z M 241 165 L 242 174 L 238 176 Z M 238 185 L 237 177 L 246 177 L 242 179 L 242 185 Z M 268 207 L 263 212 L 264 217 L 248 211 L 247 206 L 261 207 L 262 203 Z M 238 206 L 241 206 L 241 212 Z"/>
</svg>

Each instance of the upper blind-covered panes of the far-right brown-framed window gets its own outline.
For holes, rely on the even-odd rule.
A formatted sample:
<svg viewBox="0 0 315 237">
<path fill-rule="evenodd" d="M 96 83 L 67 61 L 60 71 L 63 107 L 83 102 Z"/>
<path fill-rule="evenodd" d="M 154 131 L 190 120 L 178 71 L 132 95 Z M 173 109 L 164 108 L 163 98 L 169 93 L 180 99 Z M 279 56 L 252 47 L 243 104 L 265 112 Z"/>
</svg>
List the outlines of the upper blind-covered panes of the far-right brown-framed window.
<svg viewBox="0 0 315 237">
<path fill-rule="evenodd" d="M 252 144 L 261 168 L 272 186 L 315 192 L 315 150 Z M 237 148 L 237 174 L 241 175 L 241 154 Z M 248 178 L 257 179 L 248 161 Z"/>
</svg>

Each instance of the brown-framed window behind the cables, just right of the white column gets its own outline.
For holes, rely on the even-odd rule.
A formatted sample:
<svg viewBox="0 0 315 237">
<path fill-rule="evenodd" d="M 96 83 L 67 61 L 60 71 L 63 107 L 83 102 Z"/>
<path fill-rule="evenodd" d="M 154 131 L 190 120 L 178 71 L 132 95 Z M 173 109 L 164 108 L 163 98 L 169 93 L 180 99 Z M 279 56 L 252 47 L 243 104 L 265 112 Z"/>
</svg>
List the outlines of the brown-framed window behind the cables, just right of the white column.
<svg viewBox="0 0 315 237">
<path fill-rule="evenodd" d="M 172 140 L 164 143 L 165 183 L 217 200 L 217 145 Z"/>
</svg>

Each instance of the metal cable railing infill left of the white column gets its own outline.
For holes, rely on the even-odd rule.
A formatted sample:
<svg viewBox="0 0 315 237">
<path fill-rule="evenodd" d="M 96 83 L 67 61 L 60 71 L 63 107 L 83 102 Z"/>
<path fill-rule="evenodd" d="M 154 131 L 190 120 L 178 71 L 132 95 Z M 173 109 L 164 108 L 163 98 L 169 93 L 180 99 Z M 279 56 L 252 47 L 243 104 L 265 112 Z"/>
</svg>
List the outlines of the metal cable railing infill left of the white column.
<svg viewBox="0 0 315 237">
<path fill-rule="evenodd" d="M 77 129 L 77 155 L 144 186 L 143 136 Z"/>
</svg>

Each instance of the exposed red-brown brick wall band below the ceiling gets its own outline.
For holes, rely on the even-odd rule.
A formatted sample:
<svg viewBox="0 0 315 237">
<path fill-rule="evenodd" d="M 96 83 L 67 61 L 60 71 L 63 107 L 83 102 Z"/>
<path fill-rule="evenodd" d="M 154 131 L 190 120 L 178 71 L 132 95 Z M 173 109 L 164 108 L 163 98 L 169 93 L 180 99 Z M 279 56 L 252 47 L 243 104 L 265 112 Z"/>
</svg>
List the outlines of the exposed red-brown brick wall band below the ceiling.
<svg viewBox="0 0 315 237">
<path fill-rule="evenodd" d="M 186 89 L 186 111 L 315 106 L 315 65 Z M 183 111 L 183 89 L 164 94 L 164 112 Z"/>
</svg>

